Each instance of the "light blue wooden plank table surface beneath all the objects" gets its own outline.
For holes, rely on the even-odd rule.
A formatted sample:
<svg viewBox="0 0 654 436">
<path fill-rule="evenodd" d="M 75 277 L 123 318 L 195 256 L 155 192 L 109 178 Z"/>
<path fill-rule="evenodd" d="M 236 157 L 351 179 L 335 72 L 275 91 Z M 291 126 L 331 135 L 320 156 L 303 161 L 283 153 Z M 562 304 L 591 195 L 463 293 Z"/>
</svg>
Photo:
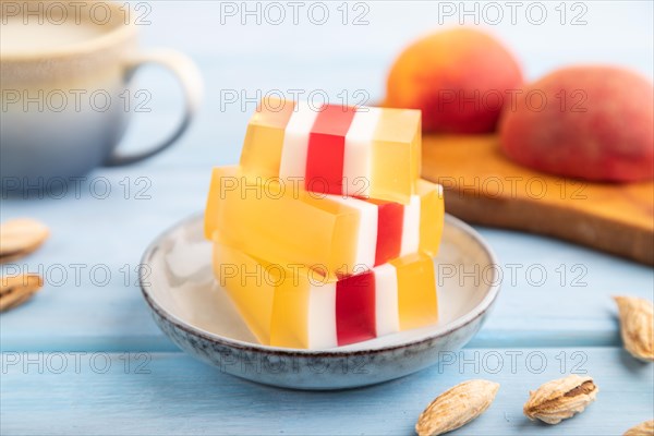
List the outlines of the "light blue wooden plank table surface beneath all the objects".
<svg viewBox="0 0 654 436">
<path fill-rule="evenodd" d="M 253 100 L 275 89 L 378 100 L 398 50 L 459 20 L 438 3 L 387 1 L 347 4 L 343 24 L 338 2 L 324 3 L 330 19 L 318 25 L 302 14 L 312 3 L 302 4 L 296 25 L 288 7 L 287 21 L 275 25 L 275 11 L 257 24 L 256 15 L 242 16 L 240 2 L 148 3 L 143 45 L 185 51 L 205 77 L 192 130 L 144 165 L 89 174 L 80 192 L 2 198 L 2 220 L 40 219 L 51 238 L 4 269 L 38 271 L 48 284 L 0 317 L 0 433 L 409 435 L 435 396 L 469 378 L 501 388 L 492 408 L 456 434 L 617 435 L 651 420 L 654 368 L 621 349 L 610 295 L 652 299 L 652 268 L 538 235 L 480 228 L 504 272 L 488 323 L 461 353 L 378 386 L 336 392 L 258 386 L 194 361 L 157 329 L 136 286 L 140 256 L 162 230 L 204 207 L 210 167 L 238 160 Z M 577 26 L 569 20 L 579 11 L 568 9 L 561 24 L 558 3 L 544 4 L 549 19 L 542 25 L 523 15 L 514 24 L 508 15 L 486 23 L 514 48 L 529 77 L 579 61 L 618 62 L 652 75 L 651 2 L 584 2 L 586 24 Z M 264 3 L 247 5 L 265 13 Z M 353 25 L 362 12 L 367 24 Z M 152 111 L 136 114 L 126 148 L 164 136 L 180 112 L 180 94 L 166 74 L 145 71 L 136 87 L 152 93 Z M 594 377 L 596 403 L 558 426 L 529 422 L 522 415 L 529 389 L 570 373 Z"/>
</svg>

